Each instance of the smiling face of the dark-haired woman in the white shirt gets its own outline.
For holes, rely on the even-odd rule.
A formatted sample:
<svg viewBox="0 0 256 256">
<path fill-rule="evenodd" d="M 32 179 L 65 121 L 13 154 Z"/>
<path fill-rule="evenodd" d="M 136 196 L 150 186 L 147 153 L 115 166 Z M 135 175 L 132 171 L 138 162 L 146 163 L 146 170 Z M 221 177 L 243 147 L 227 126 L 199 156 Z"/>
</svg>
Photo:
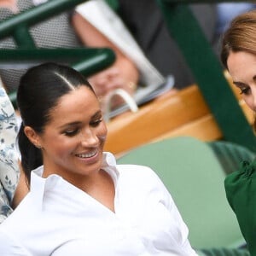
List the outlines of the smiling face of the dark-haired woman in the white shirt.
<svg viewBox="0 0 256 256">
<path fill-rule="evenodd" d="M 96 174 L 102 166 L 107 128 L 96 96 L 85 86 L 62 96 L 39 136 L 44 177 L 59 174 L 71 183 Z"/>
</svg>

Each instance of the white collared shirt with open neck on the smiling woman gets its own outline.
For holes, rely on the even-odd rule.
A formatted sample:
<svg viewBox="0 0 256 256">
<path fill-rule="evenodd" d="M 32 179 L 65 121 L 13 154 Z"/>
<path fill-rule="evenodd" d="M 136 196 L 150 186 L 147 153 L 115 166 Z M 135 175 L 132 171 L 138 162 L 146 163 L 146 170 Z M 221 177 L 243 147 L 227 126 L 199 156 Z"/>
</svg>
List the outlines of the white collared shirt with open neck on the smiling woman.
<svg viewBox="0 0 256 256">
<path fill-rule="evenodd" d="M 114 212 L 60 176 L 41 177 L 41 166 L 32 172 L 30 193 L 0 225 L 0 255 L 196 255 L 160 178 L 104 156 Z"/>
</svg>

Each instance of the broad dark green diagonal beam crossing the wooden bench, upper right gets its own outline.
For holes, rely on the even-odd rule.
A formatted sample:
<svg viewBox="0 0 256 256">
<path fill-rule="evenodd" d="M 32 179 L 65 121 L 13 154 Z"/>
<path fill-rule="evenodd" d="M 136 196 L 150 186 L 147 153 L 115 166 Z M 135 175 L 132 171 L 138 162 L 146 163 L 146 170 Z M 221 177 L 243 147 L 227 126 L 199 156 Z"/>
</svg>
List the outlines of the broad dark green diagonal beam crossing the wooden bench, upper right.
<svg viewBox="0 0 256 256">
<path fill-rule="evenodd" d="M 157 0 L 169 32 L 183 52 L 224 139 L 256 151 L 253 129 L 224 78 L 224 68 L 218 56 L 213 53 L 201 26 L 188 6 L 189 3 L 218 2 L 229 1 Z"/>
</svg>

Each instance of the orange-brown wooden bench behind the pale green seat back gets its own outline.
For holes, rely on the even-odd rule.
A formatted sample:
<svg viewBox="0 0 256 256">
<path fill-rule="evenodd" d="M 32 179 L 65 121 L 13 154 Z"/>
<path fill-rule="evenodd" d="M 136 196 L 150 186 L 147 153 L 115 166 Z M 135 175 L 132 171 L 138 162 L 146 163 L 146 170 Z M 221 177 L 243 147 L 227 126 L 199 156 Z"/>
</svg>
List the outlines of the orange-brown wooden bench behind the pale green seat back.
<svg viewBox="0 0 256 256">
<path fill-rule="evenodd" d="M 253 113 L 241 101 L 241 95 L 234 91 L 243 112 L 252 123 Z M 197 137 L 203 141 L 222 138 L 222 132 L 196 84 L 174 95 L 166 93 L 137 113 L 123 113 L 110 120 L 105 150 L 119 156 L 144 143 L 177 136 Z"/>
</svg>

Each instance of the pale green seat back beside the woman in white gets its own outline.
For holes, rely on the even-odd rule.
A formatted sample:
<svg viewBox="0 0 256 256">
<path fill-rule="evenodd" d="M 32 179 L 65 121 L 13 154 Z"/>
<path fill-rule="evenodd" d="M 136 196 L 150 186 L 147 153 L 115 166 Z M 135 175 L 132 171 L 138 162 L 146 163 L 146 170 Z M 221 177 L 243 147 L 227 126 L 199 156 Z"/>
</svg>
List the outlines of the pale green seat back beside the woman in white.
<svg viewBox="0 0 256 256">
<path fill-rule="evenodd" d="M 224 192 L 224 170 L 212 149 L 194 137 L 174 137 L 131 150 L 119 164 L 150 166 L 172 194 L 195 248 L 244 244 Z"/>
</svg>

